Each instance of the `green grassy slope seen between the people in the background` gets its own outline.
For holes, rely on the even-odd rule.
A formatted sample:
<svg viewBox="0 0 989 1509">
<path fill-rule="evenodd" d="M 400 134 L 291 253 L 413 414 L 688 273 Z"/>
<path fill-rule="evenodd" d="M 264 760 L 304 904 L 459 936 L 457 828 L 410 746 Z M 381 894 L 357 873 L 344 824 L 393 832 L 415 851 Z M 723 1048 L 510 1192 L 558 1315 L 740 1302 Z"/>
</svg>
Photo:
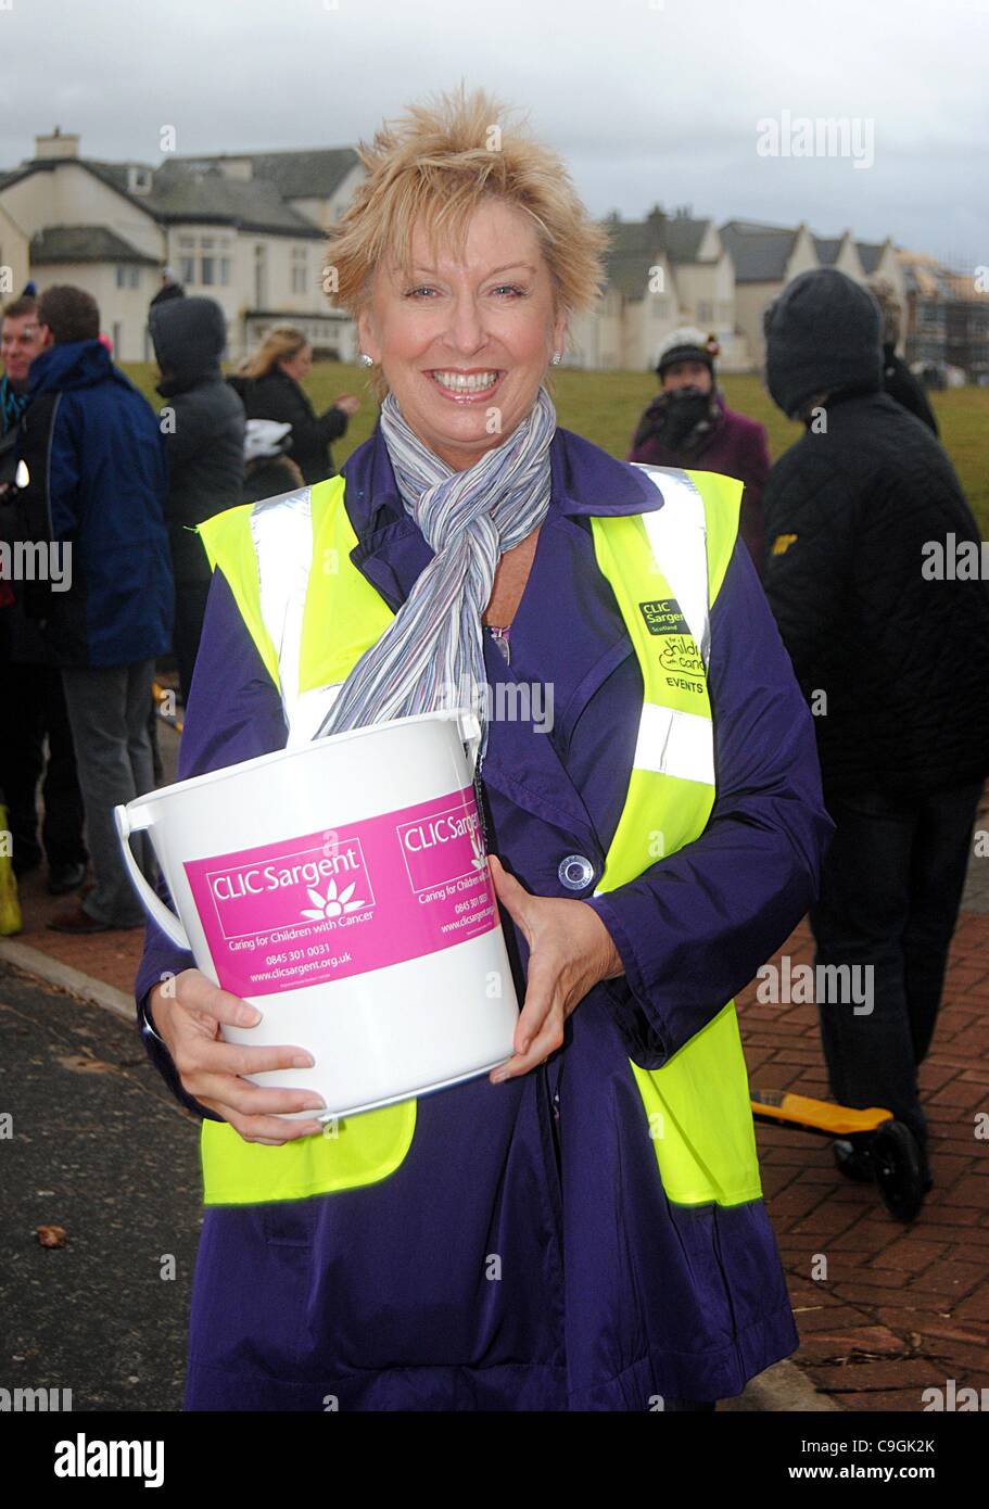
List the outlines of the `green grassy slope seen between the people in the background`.
<svg viewBox="0 0 989 1509">
<path fill-rule="evenodd" d="M 160 404 L 162 400 L 154 392 L 154 367 L 133 362 L 125 370 L 142 392 Z M 732 409 L 763 421 L 769 430 L 773 459 L 799 438 L 800 426 L 784 418 L 758 377 L 729 376 L 723 379 L 722 386 Z M 364 406 L 352 420 L 346 439 L 334 447 L 334 459 L 340 465 L 367 439 L 374 426 L 377 410 L 364 371 L 340 362 L 322 362 L 313 368 L 307 389 L 320 412 L 340 392 L 364 395 Z M 553 376 L 553 398 L 560 424 L 619 457 L 625 456 L 639 415 L 655 392 L 657 382 L 651 373 L 565 370 Z M 935 392 L 930 400 L 941 426 L 941 438 L 962 478 L 983 537 L 989 539 L 989 388 Z"/>
</svg>

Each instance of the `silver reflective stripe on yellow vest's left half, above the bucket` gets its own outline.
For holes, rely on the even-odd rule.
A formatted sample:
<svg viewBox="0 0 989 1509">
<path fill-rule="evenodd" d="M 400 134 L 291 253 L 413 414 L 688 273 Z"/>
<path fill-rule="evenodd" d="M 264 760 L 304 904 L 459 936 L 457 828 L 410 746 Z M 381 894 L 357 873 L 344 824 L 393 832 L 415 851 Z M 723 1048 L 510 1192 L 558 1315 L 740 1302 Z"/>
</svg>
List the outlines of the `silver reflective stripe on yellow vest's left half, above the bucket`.
<svg viewBox="0 0 989 1509">
<path fill-rule="evenodd" d="M 310 489 L 264 498 L 251 510 L 251 537 L 258 560 L 261 619 L 278 655 L 287 748 L 308 744 L 329 712 L 343 682 L 299 693 L 302 617 L 313 569 Z"/>
</svg>

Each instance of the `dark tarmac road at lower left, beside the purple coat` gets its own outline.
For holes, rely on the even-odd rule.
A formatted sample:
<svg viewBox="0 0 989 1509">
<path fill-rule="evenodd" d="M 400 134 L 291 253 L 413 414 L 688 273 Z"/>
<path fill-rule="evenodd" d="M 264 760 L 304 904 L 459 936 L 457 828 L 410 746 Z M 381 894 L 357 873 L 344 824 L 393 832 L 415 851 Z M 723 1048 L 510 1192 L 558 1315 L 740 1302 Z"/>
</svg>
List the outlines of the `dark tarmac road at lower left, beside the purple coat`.
<svg viewBox="0 0 989 1509">
<path fill-rule="evenodd" d="M 0 1388 L 181 1409 L 199 1200 L 198 1123 L 136 1028 L 0 964 Z"/>
</svg>

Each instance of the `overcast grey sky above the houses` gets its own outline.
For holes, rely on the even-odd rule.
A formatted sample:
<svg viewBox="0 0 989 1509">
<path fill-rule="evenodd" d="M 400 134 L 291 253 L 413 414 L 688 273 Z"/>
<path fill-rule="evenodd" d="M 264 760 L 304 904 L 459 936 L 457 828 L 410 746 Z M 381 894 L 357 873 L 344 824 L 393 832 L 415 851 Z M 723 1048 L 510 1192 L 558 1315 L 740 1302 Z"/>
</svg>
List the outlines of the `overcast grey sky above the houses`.
<svg viewBox="0 0 989 1509">
<path fill-rule="evenodd" d="M 0 167 L 56 122 L 153 163 L 163 125 L 181 154 L 352 145 L 462 77 L 530 112 L 596 214 L 805 219 L 972 267 L 987 60 L 989 0 L 0 0 Z M 855 155 L 759 154 L 785 112 L 847 118 Z"/>
</svg>

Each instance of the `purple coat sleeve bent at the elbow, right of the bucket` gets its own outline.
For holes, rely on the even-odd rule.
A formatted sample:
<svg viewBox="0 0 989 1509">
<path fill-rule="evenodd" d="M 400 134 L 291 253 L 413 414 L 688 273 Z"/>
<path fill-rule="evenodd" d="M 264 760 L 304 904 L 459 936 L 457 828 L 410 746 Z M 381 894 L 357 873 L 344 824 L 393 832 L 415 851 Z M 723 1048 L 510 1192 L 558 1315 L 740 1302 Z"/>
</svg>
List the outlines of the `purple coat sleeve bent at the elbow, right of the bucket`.
<svg viewBox="0 0 989 1509">
<path fill-rule="evenodd" d="M 717 794 L 704 833 L 587 902 L 625 969 L 630 1055 L 660 1068 L 779 948 L 817 895 L 832 822 L 811 714 L 741 540 L 711 610 Z"/>
</svg>

